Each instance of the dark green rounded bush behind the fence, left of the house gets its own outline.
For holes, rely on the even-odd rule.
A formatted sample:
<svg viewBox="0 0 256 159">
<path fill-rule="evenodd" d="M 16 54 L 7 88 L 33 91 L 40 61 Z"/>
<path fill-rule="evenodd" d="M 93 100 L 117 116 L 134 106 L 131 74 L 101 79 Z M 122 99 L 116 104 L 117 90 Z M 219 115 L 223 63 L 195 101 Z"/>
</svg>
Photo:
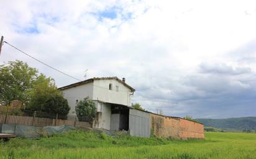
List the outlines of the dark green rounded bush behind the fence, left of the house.
<svg viewBox="0 0 256 159">
<path fill-rule="evenodd" d="M 43 103 L 42 111 L 58 114 L 58 119 L 66 119 L 70 106 L 68 101 L 62 96 L 50 97 L 45 103 Z"/>
</svg>

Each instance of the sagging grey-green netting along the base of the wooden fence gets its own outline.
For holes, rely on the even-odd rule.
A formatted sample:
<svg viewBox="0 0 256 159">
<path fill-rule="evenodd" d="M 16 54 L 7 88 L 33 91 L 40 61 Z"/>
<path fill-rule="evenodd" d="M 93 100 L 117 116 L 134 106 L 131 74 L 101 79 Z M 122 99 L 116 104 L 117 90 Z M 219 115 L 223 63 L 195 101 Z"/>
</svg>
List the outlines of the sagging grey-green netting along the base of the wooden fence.
<svg viewBox="0 0 256 159">
<path fill-rule="evenodd" d="M 45 127 L 34 127 L 34 126 L 22 126 L 18 124 L 2 124 L 0 125 L 0 132 L 2 134 L 16 134 L 17 137 L 39 139 L 42 136 L 49 136 L 53 134 L 61 134 L 78 127 L 62 125 L 62 126 L 45 126 Z"/>
</svg>

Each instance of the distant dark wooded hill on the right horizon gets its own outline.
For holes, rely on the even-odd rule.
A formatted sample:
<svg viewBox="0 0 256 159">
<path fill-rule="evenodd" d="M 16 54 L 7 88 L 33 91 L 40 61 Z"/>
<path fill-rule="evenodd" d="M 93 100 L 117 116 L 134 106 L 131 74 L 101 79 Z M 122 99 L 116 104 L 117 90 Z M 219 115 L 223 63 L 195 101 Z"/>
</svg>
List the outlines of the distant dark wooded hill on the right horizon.
<svg viewBox="0 0 256 159">
<path fill-rule="evenodd" d="M 228 118 L 228 119 L 197 119 L 205 127 L 216 127 L 227 131 L 255 131 L 256 117 Z"/>
</svg>

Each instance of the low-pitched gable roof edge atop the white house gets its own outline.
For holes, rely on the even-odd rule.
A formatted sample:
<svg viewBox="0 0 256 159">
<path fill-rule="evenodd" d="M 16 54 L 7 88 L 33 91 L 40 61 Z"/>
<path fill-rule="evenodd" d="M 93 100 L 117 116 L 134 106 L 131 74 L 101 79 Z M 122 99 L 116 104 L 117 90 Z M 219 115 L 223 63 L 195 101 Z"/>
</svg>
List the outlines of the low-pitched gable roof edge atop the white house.
<svg viewBox="0 0 256 159">
<path fill-rule="evenodd" d="M 118 82 L 120 82 L 121 84 L 123 84 L 126 87 L 128 87 L 132 92 L 135 92 L 134 88 L 130 87 L 130 85 L 126 84 L 126 82 L 123 82 L 121 79 L 119 79 L 117 77 L 93 77 L 91 79 L 83 80 L 81 82 L 76 82 L 75 84 L 66 85 L 66 86 L 60 87 L 58 89 L 59 90 L 65 90 L 65 89 L 68 89 L 68 88 L 72 88 L 72 87 L 76 87 L 76 86 L 79 86 L 79 85 L 83 85 L 83 84 L 87 84 L 87 83 L 93 82 L 94 80 L 109 80 L 109 79 L 115 79 Z"/>
</svg>

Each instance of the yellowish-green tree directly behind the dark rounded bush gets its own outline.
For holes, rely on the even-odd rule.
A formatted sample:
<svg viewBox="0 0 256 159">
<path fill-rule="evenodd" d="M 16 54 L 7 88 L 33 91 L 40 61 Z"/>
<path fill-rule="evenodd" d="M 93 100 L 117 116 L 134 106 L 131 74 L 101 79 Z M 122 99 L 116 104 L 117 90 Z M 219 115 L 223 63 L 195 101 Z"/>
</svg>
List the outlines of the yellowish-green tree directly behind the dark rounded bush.
<svg viewBox="0 0 256 159">
<path fill-rule="evenodd" d="M 53 97 L 62 97 L 62 92 L 57 89 L 55 81 L 50 77 L 40 74 L 33 82 L 29 92 L 30 102 L 28 108 L 31 110 L 44 110 L 45 102 Z M 48 112 L 48 111 L 47 111 Z"/>
</svg>

